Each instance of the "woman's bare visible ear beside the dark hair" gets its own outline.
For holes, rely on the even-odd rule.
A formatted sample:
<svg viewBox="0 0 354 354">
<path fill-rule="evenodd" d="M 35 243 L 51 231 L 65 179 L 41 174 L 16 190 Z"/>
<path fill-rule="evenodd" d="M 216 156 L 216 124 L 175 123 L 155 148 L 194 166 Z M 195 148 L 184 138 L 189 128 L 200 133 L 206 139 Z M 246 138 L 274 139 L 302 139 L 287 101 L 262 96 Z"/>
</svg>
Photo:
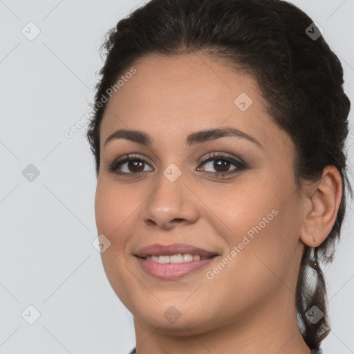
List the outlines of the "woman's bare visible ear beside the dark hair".
<svg viewBox="0 0 354 354">
<path fill-rule="evenodd" d="M 309 247 L 320 245 L 332 230 L 342 201 L 342 177 L 334 166 L 326 166 L 322 177 L 302 187 L 305 194 L 304 225 L 300 240 Z"/>
</svg>

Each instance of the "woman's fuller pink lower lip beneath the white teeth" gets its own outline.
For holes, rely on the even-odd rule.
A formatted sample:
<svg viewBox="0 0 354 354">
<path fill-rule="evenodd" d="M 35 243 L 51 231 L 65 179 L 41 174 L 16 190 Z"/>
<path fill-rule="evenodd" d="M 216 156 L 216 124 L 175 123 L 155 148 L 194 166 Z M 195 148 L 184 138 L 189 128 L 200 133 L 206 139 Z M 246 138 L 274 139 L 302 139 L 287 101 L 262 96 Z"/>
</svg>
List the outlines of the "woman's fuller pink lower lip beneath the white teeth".
<svg viewBox="0 0 354 354">
<path fill-rule="evenodd" d="M 200 270 L 214 261 L 216 257 L 184 263 L 158 263 L 140 257 L 137 258 L 145 272 L 152 277 L 158 279 L 178 279 L 192 272 L 196 272 L 196 270 Z"/>
</svg>

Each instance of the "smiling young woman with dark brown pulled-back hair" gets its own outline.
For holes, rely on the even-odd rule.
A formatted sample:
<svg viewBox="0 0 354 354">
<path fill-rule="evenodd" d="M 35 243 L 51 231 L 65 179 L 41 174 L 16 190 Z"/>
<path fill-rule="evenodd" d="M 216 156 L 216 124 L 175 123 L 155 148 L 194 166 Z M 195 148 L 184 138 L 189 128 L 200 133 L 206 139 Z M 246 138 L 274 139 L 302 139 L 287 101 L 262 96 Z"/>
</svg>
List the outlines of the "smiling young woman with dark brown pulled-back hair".
<svg viewBox="0 0 354 354">
<path fill-rule="evenodd" d="M 321 353 L 351 192 L 321 29 L 281 0 L 152 0 L 104 48 L 87 135 L 131 353 Z"/>
</svg>

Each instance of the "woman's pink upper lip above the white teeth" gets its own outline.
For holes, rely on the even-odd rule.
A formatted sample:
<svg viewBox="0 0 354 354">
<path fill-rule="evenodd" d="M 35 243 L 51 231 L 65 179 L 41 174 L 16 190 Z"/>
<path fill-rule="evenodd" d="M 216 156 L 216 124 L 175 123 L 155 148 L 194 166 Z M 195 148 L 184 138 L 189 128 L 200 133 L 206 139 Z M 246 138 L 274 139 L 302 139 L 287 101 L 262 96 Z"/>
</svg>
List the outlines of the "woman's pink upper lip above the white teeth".
<svg viewBox="0 0 354 354">
<path fill-rule="evenodd" d="M 171 256 L 173 254 L 194 254 L 201 257 L 216 256 L 216 252 L 207 251 L 203 248 L 198 248 L 194 245 L 187 245 L 185 243 L 174 243 L 172 245 L 161 245 L 160 243 L 154 243 L 153 245 L 147 245 L 140 248 L 136 254 L 137 257 L 145 258 L 147 256 Z"/>
</svg>

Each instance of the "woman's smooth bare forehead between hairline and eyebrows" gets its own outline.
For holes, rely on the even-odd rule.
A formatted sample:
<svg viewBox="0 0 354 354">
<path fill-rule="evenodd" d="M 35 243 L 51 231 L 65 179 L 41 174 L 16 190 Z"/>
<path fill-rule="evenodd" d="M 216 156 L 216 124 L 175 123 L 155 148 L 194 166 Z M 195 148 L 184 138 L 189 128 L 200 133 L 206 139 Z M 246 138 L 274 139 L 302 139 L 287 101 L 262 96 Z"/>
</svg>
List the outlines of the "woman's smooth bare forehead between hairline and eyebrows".
<svg viewBox="0 0 354 354">
<path fill-rule="evenodd" d="M 149 55 L 132 67 L 136 73 L 106 106 L 101 144 L 115 129 L 139 129 L 159 139 L 180 137 L 184 143 L 188 133 L 225 124 L 250 133 L 263 145 L 274 145 L 277 127 L 257 82 L 225 59 Z"/>
</svg>

